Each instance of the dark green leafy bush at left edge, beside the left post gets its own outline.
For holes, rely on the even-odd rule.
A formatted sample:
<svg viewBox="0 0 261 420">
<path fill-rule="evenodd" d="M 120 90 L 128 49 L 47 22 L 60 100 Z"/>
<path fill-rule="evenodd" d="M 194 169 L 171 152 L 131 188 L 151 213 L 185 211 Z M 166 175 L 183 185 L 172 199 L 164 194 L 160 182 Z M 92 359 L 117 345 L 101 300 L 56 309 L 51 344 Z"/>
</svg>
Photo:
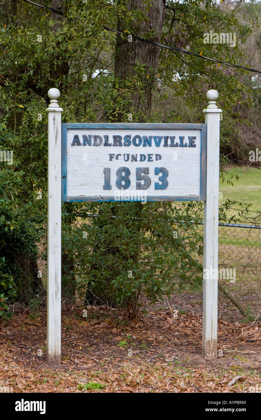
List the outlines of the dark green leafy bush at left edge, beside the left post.
<svg viewBox="0 0 261 420">
<path fill-rule="evenodd" d="M 23 202 L 22 188 L 23 172 L 0 171 L 0 293 L 5 304 L 19 300 L 27 305 L 43 289 L 36 243 L 45 231 L 44 213 L 36 200 Z"/>
</svg>

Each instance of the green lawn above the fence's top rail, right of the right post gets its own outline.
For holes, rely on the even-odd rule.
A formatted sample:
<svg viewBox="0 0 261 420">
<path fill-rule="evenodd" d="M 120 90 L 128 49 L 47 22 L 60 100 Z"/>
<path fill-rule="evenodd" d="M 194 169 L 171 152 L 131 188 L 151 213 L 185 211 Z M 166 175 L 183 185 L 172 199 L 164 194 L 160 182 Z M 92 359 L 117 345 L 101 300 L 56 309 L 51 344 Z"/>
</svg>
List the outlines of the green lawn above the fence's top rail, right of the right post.
<svg viewBox="0 0 261 420">
<path fill-rule="evenodd" d="M 227 174 L 225 178 L 230 178 L 231 175 L 238 175 L 238 181 L 233 178 L 233 186 L 227 184 L 226 181 L 222 184 L 220 181 L 220 192 L 223 196 L 220 203 L 225 202 L 228 198 L 247 204 L 253 204 L 251 211 L 261 211 L 261 170 L 249 168 L 248 166 L 234 166 L 227 167 Z M 236 214 L 236 213 L 235 213 Z"/>
</svg>

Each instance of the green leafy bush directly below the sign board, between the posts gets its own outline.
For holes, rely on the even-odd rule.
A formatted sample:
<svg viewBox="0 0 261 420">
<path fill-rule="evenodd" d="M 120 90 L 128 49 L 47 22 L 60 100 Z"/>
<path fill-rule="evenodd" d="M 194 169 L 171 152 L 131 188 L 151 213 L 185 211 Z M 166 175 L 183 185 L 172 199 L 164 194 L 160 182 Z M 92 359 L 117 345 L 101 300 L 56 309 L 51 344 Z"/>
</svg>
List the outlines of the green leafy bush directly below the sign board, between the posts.
<svg viewBox="0 0 261 420">
<path fill-rule="evenodd" d="M 189 223 L 190 208 L 171 202 L 99 204 L 98 217 L 73 235 L 78 281 L 88 286 L 86 304 L 120 305 L 132 318 L 142 297 L 156 302 L 173 289 L 198 286 L 202 234 L 197 223 Z"/>
</svg>

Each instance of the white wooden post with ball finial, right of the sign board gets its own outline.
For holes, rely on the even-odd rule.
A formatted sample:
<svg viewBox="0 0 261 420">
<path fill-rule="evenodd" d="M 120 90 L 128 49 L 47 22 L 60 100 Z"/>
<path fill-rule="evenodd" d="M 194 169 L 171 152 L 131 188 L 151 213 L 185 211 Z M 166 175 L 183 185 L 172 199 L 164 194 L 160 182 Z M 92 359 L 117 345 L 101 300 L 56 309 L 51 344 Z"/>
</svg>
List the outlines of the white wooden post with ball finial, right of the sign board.
<svg viewBox="0 0 261 420">
<path fill-rule="evenodd" d="M 202 354 L 217 357 L 218 288 L 218 191 L 220 113 L 218 92 L 207 92 L 209 105 L 204 109 L 207 124 L 207 191 L 204 202 L 203 334 Z"/>
</svg>

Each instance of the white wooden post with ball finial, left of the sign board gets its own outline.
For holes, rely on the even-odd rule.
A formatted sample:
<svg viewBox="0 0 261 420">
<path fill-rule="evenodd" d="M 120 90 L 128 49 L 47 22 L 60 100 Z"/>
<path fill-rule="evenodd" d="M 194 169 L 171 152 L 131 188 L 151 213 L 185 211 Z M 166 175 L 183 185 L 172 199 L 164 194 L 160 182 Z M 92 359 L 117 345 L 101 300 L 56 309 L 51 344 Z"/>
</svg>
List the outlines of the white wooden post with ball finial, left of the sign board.
<svg viewBox="0 0 261 420">
<path fill-rule="evenodd" d="M 48 96 L 47 363 L 54 366 L 61 362 L 62 108 L 58 89 L 49 89 Z"/>
</svg>

